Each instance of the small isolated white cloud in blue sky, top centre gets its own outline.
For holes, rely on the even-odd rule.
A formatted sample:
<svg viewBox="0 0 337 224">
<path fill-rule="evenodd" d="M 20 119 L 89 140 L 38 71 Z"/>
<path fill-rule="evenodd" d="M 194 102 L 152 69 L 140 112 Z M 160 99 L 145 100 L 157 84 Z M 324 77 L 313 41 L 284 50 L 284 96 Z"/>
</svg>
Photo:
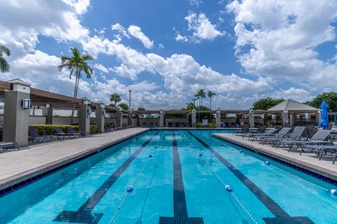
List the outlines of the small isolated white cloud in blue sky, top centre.
<svg viewBox="0 0 337 224">
<path fill-rule="evenodd" d="M 188 23 L 188 29 L 193 31 L 191 40 L 199 42 L 201 40 L 213 40 L 218 36 L 223 36 L 224 33 L 216 29 L 216 25 L 211 24 L 209 18 L 206 18 L 204 13 L 190 12 L 185 20 Z"/>
</svg>

